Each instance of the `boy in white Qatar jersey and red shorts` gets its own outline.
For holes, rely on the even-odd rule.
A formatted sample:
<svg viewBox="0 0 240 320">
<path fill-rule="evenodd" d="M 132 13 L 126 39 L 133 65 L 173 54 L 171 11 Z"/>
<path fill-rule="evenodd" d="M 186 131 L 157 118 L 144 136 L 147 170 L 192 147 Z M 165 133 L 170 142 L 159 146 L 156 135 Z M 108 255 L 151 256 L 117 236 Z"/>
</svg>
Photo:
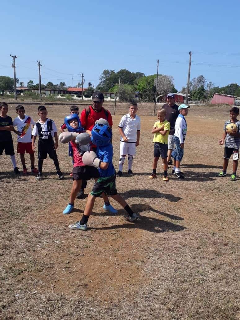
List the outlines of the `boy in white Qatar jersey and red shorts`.
<svg viewBox="0 0 240 320">
<path fill-rule="evenodd" d="M 35 121 L 30 116 L 25 115 L 25 109 L 23 106 L 18 105 L 16 107 L 16 113 L 18 116 L 13 120 L 13 127 L 17 127 L 17 130 L 13 130 L 18 135 L 18 153 L 20 153 L 20 159 L 23 166 L 23 174 L 27 174 L 28 170 L 25 163 L 25 151 L 29 153 L 31 161 L 31 172 L 38 173 L 38 170 L 34 166 L 35 158 L 32 150 L 32 137 L 31 137 L 31 124 L 35 125 Z"/>
</svg>

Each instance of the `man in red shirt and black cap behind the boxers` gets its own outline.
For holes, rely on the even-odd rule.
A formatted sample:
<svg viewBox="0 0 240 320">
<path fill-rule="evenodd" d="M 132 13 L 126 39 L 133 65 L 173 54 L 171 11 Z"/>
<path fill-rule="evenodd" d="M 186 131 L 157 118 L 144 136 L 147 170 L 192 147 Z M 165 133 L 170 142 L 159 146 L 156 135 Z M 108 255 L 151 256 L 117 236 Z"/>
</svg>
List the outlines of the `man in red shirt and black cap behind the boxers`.
<svg viewBox="0 0 240 320">
<path fill-rule="evenodd" d="M 108 121 L 110 128 L 113 125 L 113 119 L 110 111 L 103 108 L 102 104 L 104 102 L 104 96 L 102 92 L 95 91 L 92 94 L 92 106 L 89 106 L 81 112 L 80 120 L 81 124 L 85 130 L 91 131 L 95 125 L 96 120 L 103 118 Z M 90 132 L 89 132 L 90 133 Z M 93 146 L 93 151 L 96 152 L 97 146 Z M 83 185 L 84 181 L 83 181 Z M 84 197 L 84 188 L 81 188 L 78 195 L 78 198 Z"/>
</svg>

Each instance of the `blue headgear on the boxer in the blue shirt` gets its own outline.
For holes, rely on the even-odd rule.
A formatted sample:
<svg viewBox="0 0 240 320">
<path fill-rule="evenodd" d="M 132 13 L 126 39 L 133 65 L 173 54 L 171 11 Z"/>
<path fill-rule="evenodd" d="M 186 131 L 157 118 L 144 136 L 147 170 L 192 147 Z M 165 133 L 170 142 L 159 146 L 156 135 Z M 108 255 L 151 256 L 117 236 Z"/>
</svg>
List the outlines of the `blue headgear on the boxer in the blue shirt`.
<svg viewBox="0 0 240 320">
<path fill-rule="evenodd" d="M 105 147 L 110 144 L 112 130 L 106 124 L 95 124 L 92 128 L 92 142 L 98 147 Z"/>
</svg>

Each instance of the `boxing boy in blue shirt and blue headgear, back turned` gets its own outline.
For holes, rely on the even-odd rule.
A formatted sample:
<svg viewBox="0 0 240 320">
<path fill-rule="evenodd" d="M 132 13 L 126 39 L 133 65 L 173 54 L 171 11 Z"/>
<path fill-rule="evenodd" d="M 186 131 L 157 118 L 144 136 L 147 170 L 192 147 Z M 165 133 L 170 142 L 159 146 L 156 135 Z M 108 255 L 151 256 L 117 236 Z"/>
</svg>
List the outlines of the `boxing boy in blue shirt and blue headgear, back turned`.
<svg viewBox="0 0 240 320">
<path fill-rule="evenodd" d="M 68 228 L 72 230 L 86 230 L 88 218 L 92 212 L 94 202 L 102 193 L 111 195 L 126 210 L 124 215 L 126 220 L 133 222 L 137 219 L 136 213 L 132 211 L 126 201 L 117 193 L 116 189 L 116 171 L 114 169 L 113 146 L 111 144 L 112 130 L 105 119 L 99 119 L 92 129 L 92 143 L 97 146 L 97 153 L 93 151 L 85 152 L 83 163 L 86 166 L 98 168 L 100 177 L 94 184 L 92 191 L 88 195 L 84 214 L 80 221 L 70 224 Z"/>
</svg>

